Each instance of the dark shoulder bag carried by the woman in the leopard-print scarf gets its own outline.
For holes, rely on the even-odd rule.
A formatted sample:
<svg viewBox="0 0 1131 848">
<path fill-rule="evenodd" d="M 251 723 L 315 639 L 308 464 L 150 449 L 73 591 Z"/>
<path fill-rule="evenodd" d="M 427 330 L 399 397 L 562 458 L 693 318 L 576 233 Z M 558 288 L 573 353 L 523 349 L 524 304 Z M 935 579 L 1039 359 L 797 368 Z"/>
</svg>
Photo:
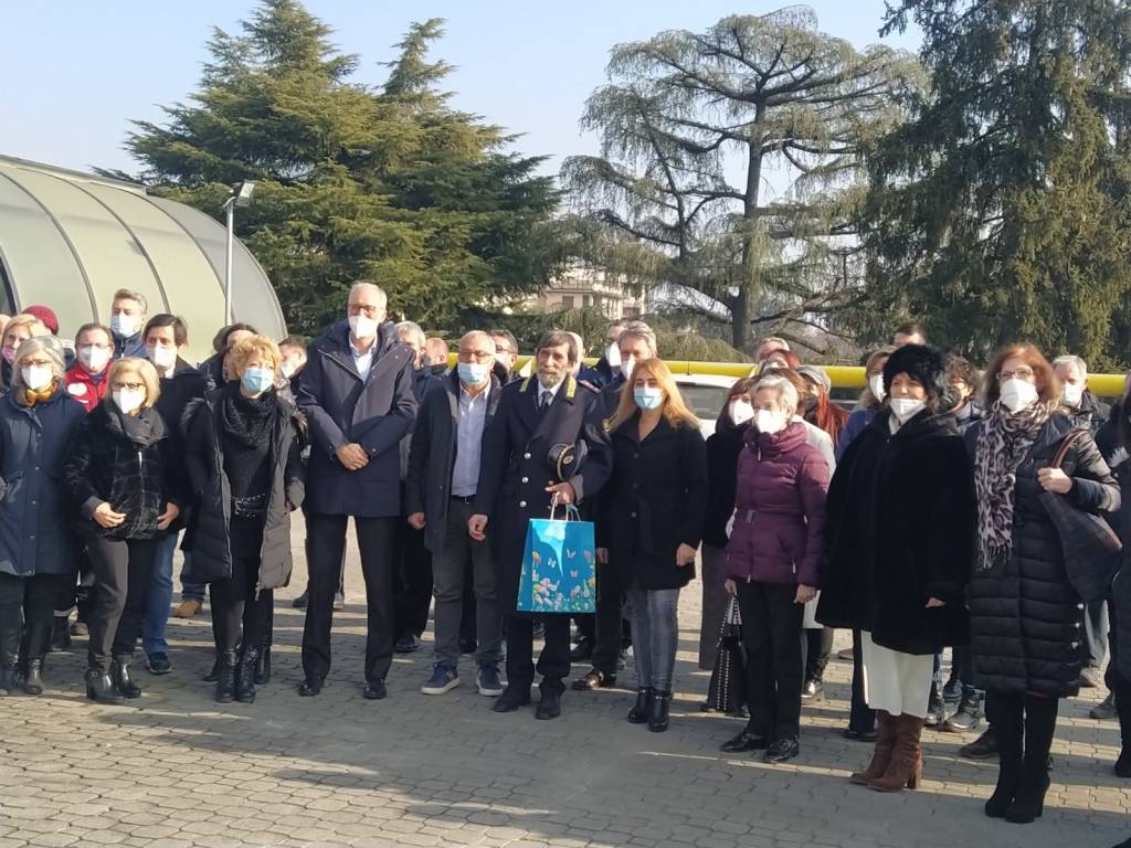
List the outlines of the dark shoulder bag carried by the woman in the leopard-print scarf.
<svg viewBox="0 0 1131 848">
<path fill-rule="evenodd" d="M 1072 445 L 1087 434 L 1080 430 L 1064 436 L 1047 467 L 1060 468 Z M 1106 598 L 1123 556 L 1123 543 L 1115 530 L 1100 516 L 1073 507 L 1064 495 L 1042 492 L 1041 502 L 1060 535 L 1064 571 L 1080 600 L 1090 604 Z"/>
</svg>

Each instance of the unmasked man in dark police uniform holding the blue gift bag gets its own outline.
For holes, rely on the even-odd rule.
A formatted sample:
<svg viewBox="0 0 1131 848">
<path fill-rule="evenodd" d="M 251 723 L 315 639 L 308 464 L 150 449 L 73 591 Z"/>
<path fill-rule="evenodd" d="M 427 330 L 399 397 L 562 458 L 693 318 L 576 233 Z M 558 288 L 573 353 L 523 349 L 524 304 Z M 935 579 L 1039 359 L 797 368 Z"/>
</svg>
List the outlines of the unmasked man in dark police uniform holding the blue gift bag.
<svg viewBox="0 0 1131 848">
<path fill-rule="evenodd" d="M 494 522 L 499 604 L 507 621 L 508 686 L 495 702 L 497 712 L 512 712 L 530 702 L 534 683 L 534 618 L 517 613 L 519 573 L 532 518 L 549 518 L 551 503 L 577 503 L 593 497 L 608 479 L 612 449 L 605 433 L 599 396 L 580 386 L 571 370 L 580 352 L 564 331 L 551 330 L 538 343 L 536 377 L 502 390 L 499 409 L 483 440 L 483 461 L 468 521 L 472 538 L 483 539 Z M 549 456 L 554 445 L 585 443 L 584 469 L 569 482 L 552 475 Z M 568 615 L 543 616 L 545 647 L 538 658 L 542 699 L 536 718 L 561 715 L 561 693 L 569 674 Z"/>
</svg>

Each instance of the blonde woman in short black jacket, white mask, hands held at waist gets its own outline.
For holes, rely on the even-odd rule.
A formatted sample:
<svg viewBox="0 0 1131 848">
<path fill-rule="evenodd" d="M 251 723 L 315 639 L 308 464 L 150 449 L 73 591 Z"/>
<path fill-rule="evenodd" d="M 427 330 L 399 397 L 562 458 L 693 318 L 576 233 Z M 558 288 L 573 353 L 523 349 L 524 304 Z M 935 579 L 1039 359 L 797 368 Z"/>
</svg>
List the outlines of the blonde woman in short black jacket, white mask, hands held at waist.
<svg viewBox="0 0 1131 848">
<path fill-rule="evenodd" d="M 157 536 L 183 504 L 169 430 L 155 408 L 157 372 L 146 360 L 110 366 L 106 398 L 86 416 L 63 466 L 76 529 L 94 565 L 96 600 L 87 625 L 86 693 L 116 702 L 138 698 L 129 666 L 141 634 Z M 113 661 L 107 669 L 107 657 Z"/>
</svg>

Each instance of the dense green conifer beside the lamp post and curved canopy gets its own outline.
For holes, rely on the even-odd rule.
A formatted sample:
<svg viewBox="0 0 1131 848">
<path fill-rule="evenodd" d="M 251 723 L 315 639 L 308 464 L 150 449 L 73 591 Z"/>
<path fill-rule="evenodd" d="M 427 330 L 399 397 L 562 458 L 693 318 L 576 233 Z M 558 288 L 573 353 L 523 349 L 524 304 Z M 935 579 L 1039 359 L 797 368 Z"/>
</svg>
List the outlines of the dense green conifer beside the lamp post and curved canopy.
<svg viewBox="0 0 1131 848">
<path fill-rule="evenodd" d="M 359 60 L 330 34 L 297 0 L 262 0 L 240 35 L 216 29 L 189 103 L 127 141 L 141 180 L 217 217 L 231 185 L 254 180 L 238 234 L 295 329 L 337 317 L 361 277 L 433 326 L 536 288 L 553 183 L 513 137 L 447 106 L 449 68 L 426 61 L 442 21 L 413 25 L 383 89 L 353 81 Z"/>
</svg>

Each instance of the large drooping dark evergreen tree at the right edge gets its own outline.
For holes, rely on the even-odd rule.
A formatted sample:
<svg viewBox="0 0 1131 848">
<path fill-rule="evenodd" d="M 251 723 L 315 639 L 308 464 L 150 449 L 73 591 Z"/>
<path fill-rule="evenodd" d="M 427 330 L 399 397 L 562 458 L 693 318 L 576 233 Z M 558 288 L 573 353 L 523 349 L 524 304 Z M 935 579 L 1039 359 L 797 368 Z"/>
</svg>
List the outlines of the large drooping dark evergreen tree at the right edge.
<svg viewBox="0 0 1131 848">
<path fill-rule="evenodd" d="M 974 356 L 1125 360 L 1126 3 L 904 0 L 886 31 L 910 21 L 931 89 L 870 158 L 873 295 Z"/>
</svg>

